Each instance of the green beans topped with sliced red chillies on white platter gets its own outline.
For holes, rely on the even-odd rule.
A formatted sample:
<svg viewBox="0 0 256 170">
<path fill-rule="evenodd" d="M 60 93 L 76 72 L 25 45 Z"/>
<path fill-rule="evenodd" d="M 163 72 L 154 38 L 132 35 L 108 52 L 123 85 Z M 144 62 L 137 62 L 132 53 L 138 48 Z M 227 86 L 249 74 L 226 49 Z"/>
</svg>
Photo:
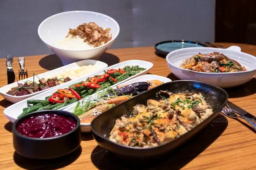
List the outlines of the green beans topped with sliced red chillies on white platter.
<svg viewBox="0 0 256 170">
<path fill-rule="evenodd" d="M 52 95 L 47 96 L 45 100 L 27 100 L 28 107 L 23 108 L 23 112 L 18 117 L 32 111 L 56 110 L 68 106 L 145 69 L 140 66 L 125 66 L 124 68 L 104 70 L 102 75 L 88 77 L 85 81 L 72 84 L 68 88 L 58 89 Z"/>
</svg>

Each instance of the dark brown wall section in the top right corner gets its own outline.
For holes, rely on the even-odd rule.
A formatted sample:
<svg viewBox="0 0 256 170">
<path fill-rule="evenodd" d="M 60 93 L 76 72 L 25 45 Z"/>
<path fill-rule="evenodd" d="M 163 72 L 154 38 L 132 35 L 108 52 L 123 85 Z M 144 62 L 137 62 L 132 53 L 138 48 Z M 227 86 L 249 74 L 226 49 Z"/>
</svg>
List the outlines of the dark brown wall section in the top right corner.
<svg viewBox="0 0 256 170">
<path fill-rule="evenodd" d="M 256 45 L 256 0 L 216 0 L 215 41 Z"/>
</svg>

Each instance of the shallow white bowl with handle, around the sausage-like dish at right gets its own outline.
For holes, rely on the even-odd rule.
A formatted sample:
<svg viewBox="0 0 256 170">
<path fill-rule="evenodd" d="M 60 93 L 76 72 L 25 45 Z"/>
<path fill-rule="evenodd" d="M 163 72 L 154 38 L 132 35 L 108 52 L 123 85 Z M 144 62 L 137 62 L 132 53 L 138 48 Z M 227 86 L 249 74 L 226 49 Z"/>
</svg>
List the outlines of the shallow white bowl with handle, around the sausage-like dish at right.
<svg viewBox="0 0 256 170">
<path fill-rule="evenodd" d="M 197 53 L 223 53 L 227 57 L 234 59 L 246 68 L 242 72 L 226 72 L 226 73 L 208 73 L 196 72 L 184 68 L 180 68 L 180 64 L 187 58 L 192 57 Z M 256 57 L 247 53 L 241 52 L 238 46 L 231 46 L 227 49 L 217 49 L 210 47 L 191 47 L 185 49 L 178 49 L 170 52 L 166 56 L 166 62 L 171 72 L 181 80 L 196 80 L 206 82 L 219 86 L 221 88 L 228 88 L 239 86 L 250 81 L 256 74 Z"/>
</svg>

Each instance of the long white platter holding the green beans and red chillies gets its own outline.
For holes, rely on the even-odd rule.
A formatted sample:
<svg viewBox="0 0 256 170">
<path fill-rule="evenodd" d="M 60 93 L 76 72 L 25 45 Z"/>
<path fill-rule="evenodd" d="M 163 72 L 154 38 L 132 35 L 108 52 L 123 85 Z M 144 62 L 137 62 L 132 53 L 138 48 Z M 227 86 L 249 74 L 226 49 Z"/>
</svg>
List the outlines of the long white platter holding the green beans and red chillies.
<svg viewBox="0 0 256 170">
<path fill-rule="evenodd" d="M 143 70 L 142 72 L 138 73 L 138 74 L 135 74 L 133 76 L 130 76 L 129 78 L 126 78 L 125 80 L 121 81 L 121 82 L 118 82 L 112 86 L 110 86 L 110 88 L 118 85 L 118 84 L 121 84 L 122 82 L 125 82 L 127 80 L 130 80 L 132 78 L 135 78 L 137 76 L 140 76 L 140 75 L 143 75 L 143 74 L 147 74 L 149 72 L 149 70 L 152 68 L 153 64 L 148 62 L 148 61 L 141 61 L 141 60 L 129 60 L 129 61 L 124 61 L 122 63 L 118 63 L 118 64 L 114 64 L 112 66 L 109 66 L 105 69 L 102 69 L 102 70 L 98 70 L 92 74 L 88 74 L 87 76 L 84 76 L 82 78 L 78 78 L 76 80 L 71 80 L 70 82 L 66 82 L 65 84 L 60 84 L 59 86 L 55 87 L 55 88 L 52 88 L 46 92 L 43 92 L 43 93 L 40 93 L 36 96 L 32 96 L 30 98 L 27 98 L 25 100 L 22 100 L 16 104 L 13 104 L 12 106 L 9 106 L 7 107 L 6 109 L 4 109 L 4 114 L 6 115 L 6 117 L 11 121 L 11 122 L 14 122 L 18 115 L 20 115 L 22 113 L 22 109 L 24 107 L 27 107 L 27 100 L 45 100 L 45 97 L 47 96 L 50 96 L 52 95 L 52 93 L 56 92 L 58 89 L 61 89 L 61 88 L 66 88 L 74 83 L 77 83 L 77 82 L 80 82 L 82 80 L 86 80 L 86 78 L 88 77 L 92 77 L 92 76 L 95 76 L 95 75 L 101 75 L 101 74 L 104 74 L 104 70 L 110 70 L 112 68 L 115 68 L 115 69 L 118 69 L 118 68 L 123 68 L 124 66 L 132 66 L 132 65 L 140 65 L 140 66 L 143 66 L 144 68 L 146 68 L 146 70 Z M 101 92 L 101 91 L 99 91 Z M 90 98 L 90 96 L 88 96 L 87 98 Z M 86 99 L 86 98 L 85 98 Z M 60 109 L 65 109 L 66 107 L 68 106 L 65 106 L 65 107 L 62 107 Z"/>
</svg>

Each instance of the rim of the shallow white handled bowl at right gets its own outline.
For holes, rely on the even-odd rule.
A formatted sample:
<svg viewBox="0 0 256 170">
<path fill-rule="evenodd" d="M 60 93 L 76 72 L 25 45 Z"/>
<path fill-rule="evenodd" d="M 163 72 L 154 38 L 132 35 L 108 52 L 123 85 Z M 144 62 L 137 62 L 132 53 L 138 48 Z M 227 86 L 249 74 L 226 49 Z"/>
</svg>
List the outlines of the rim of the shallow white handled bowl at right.
<svg viewBox="0 0 256 170">
<path fill-rule="evenodd" d="M 236 47 L 238 47 L 238 46 L 236 46 Z M 169 58 L 170 58 L 170 56 L 173 54 L 173 53 L 175 53 L 175 52 L 177 52 L 177 51 L 188 51 L 189 49 L 198 49 L 198 50 L 200 50 L 200 49 L 213 49 L 213 51 L 214 50 L 216 50 L 216 49 L 218 49 L 218 50 L 224 50 L 224 51 L 233 51 L 233 52 L 235 52 L 235 53 L 239 53 L 239 54 L 242 54 L 242 55 L 247 55 L 248 57 L 254 57 L 253 55 L 250 55 L 250 54 L 248 54 L 248 53 L 244 53 L 244 52 L 242 52 L 242 51 L 236 51 L 236 50 L 231 50 L 231 49 L 221 49 L 221 48 L 213 48 L 213 47 L 189 47 L 189 48 L 184 48 L 184 49 L 177 49 L 177 50 L 174 50 L 174 51 L 171 51 L 170 53 L 168 53 L 168 55 L 166 56 L 166 61 L 167 61 L 167 63 L 168 64 L 170 64 L 170 65 L 172 65 L 172 66 L 174 66 L 175 68 L 178 68 L 178 69 L 180 69 L 180 70 L 184 70 L 184 71 L 189 71 L 189 72 L 194 72 L 194 73 L 197 73 L 197 74 L 212 74 L 212 75 L 223 75 L 223 74 L 242 74 L 242 73 L 246 73 L 246 72 L 253 72 L 253 71 L 255 71 L 256 70 L 256 68 L 254 68 L 253 70 L 246 70 L 246 71 L 240 71 L 240 72 L 221 72 L 221 73 L 219 73 L 219 72 L 199 72 L 199 71 L 193 71 L 193 70 L 189 70 L 189 69 L 186 69 L 186 68 L 181 68 L 181 67 L 178 67 L 178 66 L 175 66 L 174 64 L 172 64 L 170 61 L 169 61 Z M 254 57 L 254 58 L 256 58 L 256 57 Z"/>
</svg>

